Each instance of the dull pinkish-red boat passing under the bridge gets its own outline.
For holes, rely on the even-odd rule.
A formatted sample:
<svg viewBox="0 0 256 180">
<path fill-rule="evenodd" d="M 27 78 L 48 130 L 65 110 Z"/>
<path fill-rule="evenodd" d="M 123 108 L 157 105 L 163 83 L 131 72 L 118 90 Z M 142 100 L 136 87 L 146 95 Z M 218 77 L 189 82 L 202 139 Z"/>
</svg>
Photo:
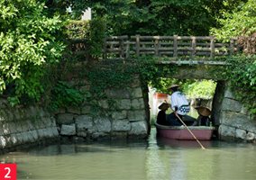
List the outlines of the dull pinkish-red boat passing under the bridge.
<svg viewBox="0 0 256 180">
<path fill-rule="evenodd" d="M 183 116 L 183 121 L 186 123 L 187 128 L 192 131 L 198 140 L 209 140 L 213 136 L 215 127 L 202 127 L 196 126 L 197 119 L 191 116 Z M 157 129 L 157 134 L 169 139 L 195 139 L 185 126 L 166 126 L 154 121 Z"/>
</svg>

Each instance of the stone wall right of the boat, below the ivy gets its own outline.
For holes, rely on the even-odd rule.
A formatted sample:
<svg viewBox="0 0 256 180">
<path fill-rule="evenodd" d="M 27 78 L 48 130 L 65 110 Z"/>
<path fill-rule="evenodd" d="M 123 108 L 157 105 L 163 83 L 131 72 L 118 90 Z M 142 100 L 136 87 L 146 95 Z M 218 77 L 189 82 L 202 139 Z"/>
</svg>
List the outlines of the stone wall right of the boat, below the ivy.
<svg viewBox="0 0 256 180">
<path fill-rule="evenodd" d="M 212 119 L 218 128 L 219 139 L 256 142 L 256 120 L 244 110 L 244 104 L 233 97 L 228 83 L 223 81 L 216 86 Z"/>
</svg>

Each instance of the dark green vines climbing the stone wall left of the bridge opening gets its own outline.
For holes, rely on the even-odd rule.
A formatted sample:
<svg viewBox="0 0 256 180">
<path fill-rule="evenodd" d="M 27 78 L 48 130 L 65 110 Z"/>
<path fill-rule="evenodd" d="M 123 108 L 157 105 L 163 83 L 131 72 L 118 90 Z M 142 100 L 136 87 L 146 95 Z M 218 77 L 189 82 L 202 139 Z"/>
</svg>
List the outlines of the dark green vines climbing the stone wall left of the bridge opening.
<svg viewBox="0 0 256 180">
<path fill-rule="evenodd" d="M 106 89 L 126 89 L 130 91 L 130 85 L 134 83 L 134 76 L 137 75 L 142 78 L 142 91 L 147 94 L 149 84 L 152 82 L 155 85 L 161 83 L 158 82 L 158 76 L 176 72 L 176 66 L 164 65 L 157 67 L 154 62 L 154 58 L 147 56 L 141 58 L 134 57 L 125 61 L 94 61 L 82 67 L 69 62 L 69 65 L 66 65 L 64 70 L 62 69 L 58 77 L 59 81 L 51 91 L 50 95 L 52 95 L 52 98 L 50 98 L 49 106 L 54 110 L 62 106 L 89 105 L 92 112 L 110 114 L 111 112 L 119 111 L 116 103 L 118 99 L 107 98 Z M 72 79 L 70 75 L 73 72 L 76 72 L 77 82 L 75 83 L 76 85 L 70 86 L 64 83 L 64 81 L 65 79 L 70 81 Z M 85 79 L 89 82 L 90 86 L 86 91 L 79 88 Z M 63 86 L 65 88 L 62 88 Z M 73 93 L 69 94 L 70 92 Z M 69 95 L 68 101 L 64 94 Z M 108 108 L 104 108 L 99 103 L 101 100 L 105 100 L 108 103 Z"/>
</svg>

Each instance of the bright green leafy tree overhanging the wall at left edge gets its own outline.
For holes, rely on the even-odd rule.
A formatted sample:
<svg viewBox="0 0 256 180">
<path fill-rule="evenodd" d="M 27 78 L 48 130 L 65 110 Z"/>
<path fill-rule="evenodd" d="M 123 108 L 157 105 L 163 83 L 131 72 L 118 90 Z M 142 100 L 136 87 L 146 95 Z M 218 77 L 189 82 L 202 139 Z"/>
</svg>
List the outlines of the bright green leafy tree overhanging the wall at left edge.
<svg viewBox="0 0 256 180">
<path fill-rule="evenodd" d="M 35 0 L 0 0 L 0 93 L 12 85 L 11 102 L 39 100 L 46 67 L 59 62 L 65 49 L 58 16 L 48 18 Z"/>
</svg>

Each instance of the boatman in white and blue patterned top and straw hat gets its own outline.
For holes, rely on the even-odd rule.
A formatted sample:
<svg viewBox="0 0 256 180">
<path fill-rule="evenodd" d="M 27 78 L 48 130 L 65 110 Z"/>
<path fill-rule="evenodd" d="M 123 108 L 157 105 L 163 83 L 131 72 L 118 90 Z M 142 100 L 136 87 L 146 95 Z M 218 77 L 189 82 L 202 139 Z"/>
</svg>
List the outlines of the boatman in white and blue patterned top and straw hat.
<svg viewBox="0 0 256 180">
<path fill-rule="evenodd" d="M 172 92 L 170 96 L 171 104 L 168 103 L 168 106 L 172 110 L 175 110 L 167 116 L 167 120 L 173 126 L 183 126 L 182 122 L 178 120 L 178 117 L 182 120 L 182 117 L 190 110 L 185 94 L 178 91 L 179 86 L 180 85 L 170 85 L 167 88 L 167 90 Z"/>
</svg>

